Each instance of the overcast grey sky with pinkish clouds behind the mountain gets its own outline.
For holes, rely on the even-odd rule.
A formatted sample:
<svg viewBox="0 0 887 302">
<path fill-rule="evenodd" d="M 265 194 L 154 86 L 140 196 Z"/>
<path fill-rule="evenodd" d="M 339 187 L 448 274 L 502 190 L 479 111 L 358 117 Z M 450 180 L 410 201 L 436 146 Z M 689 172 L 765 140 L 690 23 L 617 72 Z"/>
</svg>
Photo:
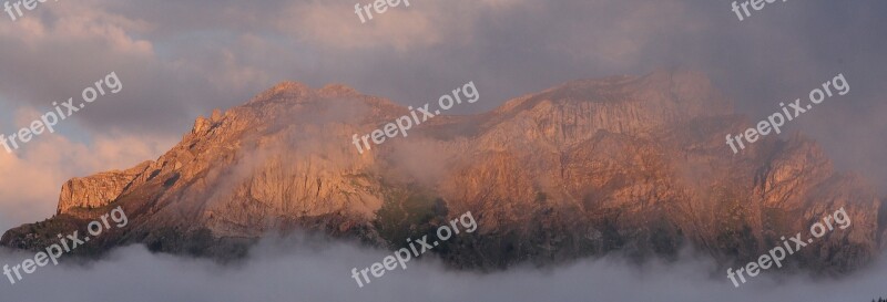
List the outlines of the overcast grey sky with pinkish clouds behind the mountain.
<svg viewBox="0 0 887 302">
<path fill-rule="evenodd" d="M 404 105 L 473 81 L 482 100 L 455 108 L 468 113 L 571 80 L 682 66 L 759 121 L 843 73 L 850 93 L 789 128 L 887 192 L 887 1 L 776 1 L 744 21 L 731 2 L 414 0 L 366 24 L 338 0 L 61 0 L 0 14 L 0 134 L 112 71 L 123 83 L 58 134 L 0 149 L 0 229 L 54 214 L 67 179 L 153 159 L 196 116 L 285 80 Z"/>
</svg>

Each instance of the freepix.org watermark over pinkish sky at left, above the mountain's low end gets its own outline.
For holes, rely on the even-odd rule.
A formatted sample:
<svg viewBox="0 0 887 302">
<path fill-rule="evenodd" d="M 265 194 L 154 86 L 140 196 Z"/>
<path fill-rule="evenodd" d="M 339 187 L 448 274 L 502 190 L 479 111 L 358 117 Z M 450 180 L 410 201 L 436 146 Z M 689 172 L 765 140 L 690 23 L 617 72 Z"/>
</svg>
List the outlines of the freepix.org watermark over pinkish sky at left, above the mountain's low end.
<svg viewBox="0 0 887 302">
<path fill-rule="evenodd" d="M 108 88 L 108 91 L 105 91 L 105 88 Z M 55 106 L 55 111 L 47 112 L 39 119 L 31 122 L 28 127 L 21 128 L 9 136 L 0 134 L 0 144 L 3 145 L 7 153 L 12 153 L 13 149 L 19 149 L 21 147 L 20 144 L 31 142 L 37 135 L 41 135 L 44 132 L 55 133 L 55 124 L 83 110 L 86 104 L 95 102 L 99 96 L 108 93 L 115 94 L 122 90 L 123 82 L 120 82 L 115 72 L 111 72 L 105 75 L 103 80 L 100 79 L 96 81 L 95 87 L 86 87 L 83 90 L 80 95 L 83 97 L 82 103 L 74 105 L 73 97 L 68 98 L 68 102 L 62 102 L 61 105 L 59 105 L 58 102 L 52 102 L 52 106 Z"/>
</svg>

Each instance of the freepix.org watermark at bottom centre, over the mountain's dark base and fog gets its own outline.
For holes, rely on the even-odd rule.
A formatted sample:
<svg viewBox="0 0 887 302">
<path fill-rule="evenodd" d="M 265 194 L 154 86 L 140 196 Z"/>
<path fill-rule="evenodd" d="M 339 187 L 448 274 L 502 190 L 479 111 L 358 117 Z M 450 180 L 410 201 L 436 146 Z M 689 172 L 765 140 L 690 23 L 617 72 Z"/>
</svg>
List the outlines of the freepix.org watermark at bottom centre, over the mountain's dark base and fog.
<svg viewBox="0 0 887 302">
<path fill-rule="evenodd" d="M 449 240 L 453 235 L 459 235 L 459 226 L 461 225 L 462 228 L 467 228 L 465 232 L 471 233 L 478 229 L 478 222 L 475 220 L 475 217 L 471 216 L 471 211 L 463 214 L 461 217 L 452 219 L 449 226 L 440 226 L 437 229 L 437 238 L 440 241 Z M 452 228 L 450 228 L 452 227 Z M 432 239 L 434 240 L 434 239 Z M 407 242 L 409 243 L 409 249 L 402 248 L 396 251 L 392 256 L 388 256 L 381 260 L 381 262 L 373 263 L 373 265 L 368 268 L 364 268 L 360 271 L 357 271 L 357 268 L 351 269 L 351 278 L 357 281 L 357 287 L 364 288 L 364 283 L 369 284 L 373 280 L 369 279 L 369 274 L 373 274 L 375 278 L 381 278 L 385 275 L 386 271 L 391 271 L 397 269 L 399 265 L 401 269 L 407 269 L 407 262 L 415 257 L 419 257 L 427 251 L 430 251 L 438 244 L 440 244 L 438 240 L 429 240 L 428 236 L 422 236 L 421 239 L 416 239 L 412 241 L 411 238 L 407 238 Z M 416 243 L 419 243 L 419 247 L 416 247 Z M 363 278 L 361 278 L 363 277 Z"/>
</svg>

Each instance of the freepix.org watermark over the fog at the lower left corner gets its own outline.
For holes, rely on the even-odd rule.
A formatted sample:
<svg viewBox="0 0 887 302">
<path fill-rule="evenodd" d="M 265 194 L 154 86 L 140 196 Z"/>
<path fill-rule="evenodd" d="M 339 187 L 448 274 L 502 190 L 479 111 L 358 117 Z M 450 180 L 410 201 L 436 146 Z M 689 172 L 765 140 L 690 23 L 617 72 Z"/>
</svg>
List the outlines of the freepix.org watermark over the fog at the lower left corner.
<svg viewBox="0 0 887 302">
<path fill-rule="evenodd" d="M 126 218 L 126 214 L 123 212 L 123 208 L 118 206 L 115 209 L 111 210 L 111 212 L 102 215 L 99 220 L 86 225 L 86 231 L 89 232 L 89 236 L 81 238 L 79 231 L 74 231 L 73 233 L 64 237 L 59 233 L 57 235 L 57 237 L 59 237 L 59 243 L 49 246 L 45 252 L 38 252 L 34 254 L 33 259 L 26 259 L 21 263 L 13 267 L 4 264 L 3 274 L 7 275 L 10 283 L 16 284 L 17 281 L 21 281 L 24 278 L 24 274 L 22 273 L 34 273 L 38 268 L 45 267 L 50 261 L 52 261 L 53 265 L 58 265 L 59 258 L 61 258 L 63 253 L 71 252 L 78 247 L 90 242 L 90 238 L 99 237 L 104 230 L 110 230 L 111 223 L 108 221 L 109 218 L 111 218 L 111 221 L 116 223 L 118 228 L 123 228 L 129 223 L 129 219 Z"/>
</svg>

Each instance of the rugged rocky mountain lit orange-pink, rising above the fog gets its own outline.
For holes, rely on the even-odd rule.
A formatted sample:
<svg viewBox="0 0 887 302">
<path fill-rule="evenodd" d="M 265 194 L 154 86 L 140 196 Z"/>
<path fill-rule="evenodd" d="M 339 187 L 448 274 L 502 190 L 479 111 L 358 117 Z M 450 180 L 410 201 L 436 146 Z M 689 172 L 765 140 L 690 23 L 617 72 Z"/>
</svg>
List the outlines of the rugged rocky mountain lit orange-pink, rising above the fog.
<svg viewBox="0 0 887 302">
<path fill-rule="evenodd" d="M 684 244 L 727 265 L 808 236 L 844 207 L 850 228 L 789 259 L 839 272 L 871 260 L 885 232 L 884 200 L 834 171 L 814 142 L 767 137 L 734 155 L 724 136 L 751 122 L 697 73 L 571 82 L 489 113 L 437 116 L 357 153 L 351 135 L 407 114 L 341 85 L 282 83 L 197 118 L 157 160 L 68 181 L 55 217 L 0 243 L 40 249 L 49 230 L 122 206 L 130 226 L 88 252 L 144 243 L 227 258 L 293 230 L 399 248 L 471 211 L 478 231 L 436 250 L 455 267 L 673 257 Z"/>
</svg>

